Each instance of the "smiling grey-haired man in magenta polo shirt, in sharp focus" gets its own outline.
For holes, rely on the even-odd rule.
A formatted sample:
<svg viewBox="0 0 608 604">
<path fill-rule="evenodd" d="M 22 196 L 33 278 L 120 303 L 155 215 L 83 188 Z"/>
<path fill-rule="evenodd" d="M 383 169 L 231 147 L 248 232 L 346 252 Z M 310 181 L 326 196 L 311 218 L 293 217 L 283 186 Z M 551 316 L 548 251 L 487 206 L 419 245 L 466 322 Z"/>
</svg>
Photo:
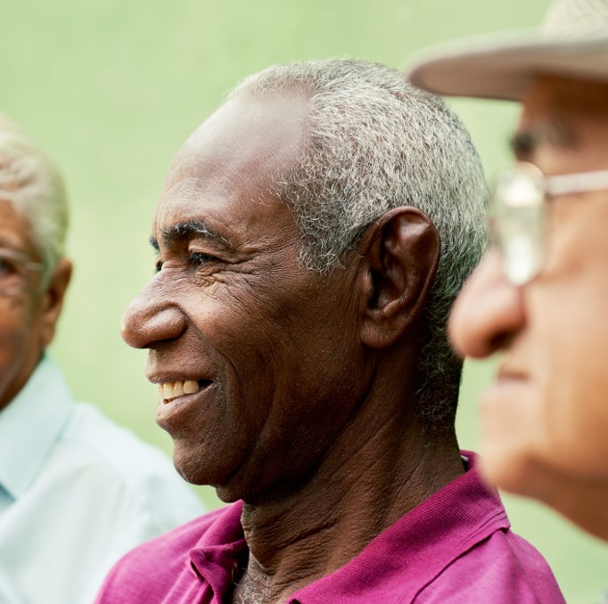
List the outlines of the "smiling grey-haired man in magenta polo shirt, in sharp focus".
<svg viewBox="0 0 608 604">
<path fill-rule="evenodd" d="M 233 91 L 169 168 L 123 334 L 177 469 L 235 503 L 127 554 L 99 602 L 563 601 L 454 434 L 445 323 L 485 197 L 464 127 L 392 69 Z"/>
</svg>

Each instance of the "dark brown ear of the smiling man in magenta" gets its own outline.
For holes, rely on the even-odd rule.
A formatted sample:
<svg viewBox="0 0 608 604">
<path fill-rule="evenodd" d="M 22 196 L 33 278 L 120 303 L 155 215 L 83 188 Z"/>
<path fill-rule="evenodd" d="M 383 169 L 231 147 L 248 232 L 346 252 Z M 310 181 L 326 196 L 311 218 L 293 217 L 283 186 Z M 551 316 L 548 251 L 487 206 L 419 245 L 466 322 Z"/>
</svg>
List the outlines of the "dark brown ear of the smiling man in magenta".
<svg viewBox="0 0 608 604">
<path fill-rule="evenodd" d="M 367 228 L 359 244 L 366 346 L 389 347 L 421 316 L 440 249 L 435 225 L 417 208 L 393 208 Z"/>
</svg>

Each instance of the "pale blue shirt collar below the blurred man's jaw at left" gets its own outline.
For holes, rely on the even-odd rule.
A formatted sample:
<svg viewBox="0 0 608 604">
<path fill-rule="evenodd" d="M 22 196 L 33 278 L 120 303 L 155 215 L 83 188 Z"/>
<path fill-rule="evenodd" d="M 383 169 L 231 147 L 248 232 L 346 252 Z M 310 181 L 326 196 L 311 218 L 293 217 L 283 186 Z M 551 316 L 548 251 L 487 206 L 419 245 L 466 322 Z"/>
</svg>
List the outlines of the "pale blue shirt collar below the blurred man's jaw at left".
<svg viewBox="0 0 608 604">
<path fill-rule="evenodd" d="M 70 416 L 72 399 L 61 371 L 45 355 L 0 412 L 0 484 L 17 499 L 25 492 Z"/>
</svg>

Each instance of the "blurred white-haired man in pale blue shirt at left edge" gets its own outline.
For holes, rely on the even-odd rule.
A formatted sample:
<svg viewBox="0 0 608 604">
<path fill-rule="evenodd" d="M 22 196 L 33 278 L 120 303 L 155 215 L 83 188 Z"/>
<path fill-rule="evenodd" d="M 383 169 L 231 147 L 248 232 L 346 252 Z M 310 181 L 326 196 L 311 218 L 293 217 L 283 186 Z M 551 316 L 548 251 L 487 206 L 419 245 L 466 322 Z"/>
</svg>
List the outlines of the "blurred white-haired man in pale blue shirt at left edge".
<svg viewBox="0 0 608 604">
<path fill-rule="evenodd" d="M 0 601 L 83 604 L 127 550 L 201 513 L 170 461 L 75 404 L 45 348 L 70 282 L 49 159 L 0 123 Z"/>
</svg>

